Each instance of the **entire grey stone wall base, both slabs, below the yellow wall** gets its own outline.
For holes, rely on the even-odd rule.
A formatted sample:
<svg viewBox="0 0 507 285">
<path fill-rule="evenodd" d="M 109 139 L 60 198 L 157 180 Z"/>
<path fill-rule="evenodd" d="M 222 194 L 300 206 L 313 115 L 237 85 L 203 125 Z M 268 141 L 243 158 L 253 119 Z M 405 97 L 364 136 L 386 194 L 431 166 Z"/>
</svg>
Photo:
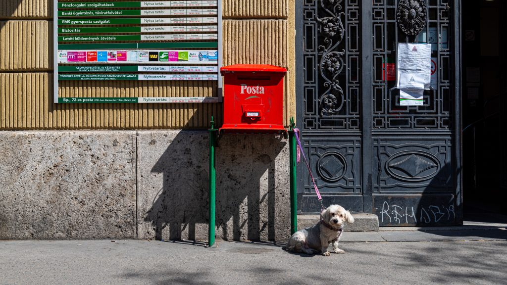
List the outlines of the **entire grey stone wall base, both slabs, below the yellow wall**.
<svg viewBox="0 0 507 285">
<path fill-rule="evenodd" d="M 207 131 L 0 131 L 0 239 L 207 240 Z M 286 241 L 287 141 L 225 135 L 216 235 Z"/>
</svg>

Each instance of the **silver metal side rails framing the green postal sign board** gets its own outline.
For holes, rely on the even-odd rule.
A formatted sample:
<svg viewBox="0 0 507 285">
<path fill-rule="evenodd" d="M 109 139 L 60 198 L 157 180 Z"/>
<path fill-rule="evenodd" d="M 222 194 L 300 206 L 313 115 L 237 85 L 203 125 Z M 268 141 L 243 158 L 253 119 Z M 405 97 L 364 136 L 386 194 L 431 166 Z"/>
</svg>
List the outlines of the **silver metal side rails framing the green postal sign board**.
<svg viewBox="0 0 507 285">
<path fill-rule="evenodd" d="M 223 81 L 222 76 L 220 74 L 220 67 L 224 64 L 224 57 L 223 57 L 223 33 L 222 33 L 222 0 L 217 0 L 216 3 L 216 21 L 217 21 L 217 34 L 218 34 L 218 90 L 216 97 L 208 97 L 209 99 L 203 99 L 201 102 L 222 102 L 223 98 Z M 140 98 L 145 97 L 139 97 L 138 101 L 139 103 L 143 102 Z M 148 98 L 148 97 L 146 97 Z M 165 98 L 165 97 L 164 97 Z M 189 100 L 192 101 L 195 97 L 184 97 L 179 99 L 188 102 Z M 177 102 L 178 100 L 164 100 L 164 102 Z M 53 0 L 53 102 L 58 103 L 58 0 Z M 195 100 L 193 102 L 198 102 L 198 100 Z"/>
</svg>

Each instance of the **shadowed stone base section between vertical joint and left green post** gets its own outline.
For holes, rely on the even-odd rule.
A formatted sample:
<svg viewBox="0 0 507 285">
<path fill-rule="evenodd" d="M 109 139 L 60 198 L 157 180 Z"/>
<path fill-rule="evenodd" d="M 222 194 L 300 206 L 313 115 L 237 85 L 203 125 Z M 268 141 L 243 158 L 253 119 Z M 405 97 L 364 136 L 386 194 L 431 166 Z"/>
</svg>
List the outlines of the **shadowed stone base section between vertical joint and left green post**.
<svg viewBox="0 0 507 285">
<path fill-rule="evenodd" d="M 141 239 L 207 239 L 208 134 L 137 133 L 137 223 Z"/>
</svg>

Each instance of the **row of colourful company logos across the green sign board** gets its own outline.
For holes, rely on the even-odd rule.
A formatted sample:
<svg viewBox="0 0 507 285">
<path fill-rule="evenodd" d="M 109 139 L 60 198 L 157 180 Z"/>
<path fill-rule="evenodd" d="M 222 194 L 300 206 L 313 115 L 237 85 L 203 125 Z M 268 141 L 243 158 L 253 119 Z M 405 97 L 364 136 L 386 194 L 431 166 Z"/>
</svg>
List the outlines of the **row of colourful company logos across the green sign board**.
<svg viewBox="0 0 507 285">
<path fill-rule="evenodd" d="M 164 50 L 103 50 L 58 51 L 58 63 L 217 63 L 218 51 L 164 51 Z"/>
</svg>

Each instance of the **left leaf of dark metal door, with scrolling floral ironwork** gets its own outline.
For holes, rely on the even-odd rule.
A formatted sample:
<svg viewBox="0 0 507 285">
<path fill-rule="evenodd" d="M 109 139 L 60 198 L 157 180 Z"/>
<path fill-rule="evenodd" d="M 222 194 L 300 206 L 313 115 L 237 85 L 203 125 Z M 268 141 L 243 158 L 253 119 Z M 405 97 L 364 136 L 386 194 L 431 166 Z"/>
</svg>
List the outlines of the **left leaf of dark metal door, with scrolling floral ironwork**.
<svg viewBox="0 0 507 285">
<path fill-rule="evenodd" d="M 360 0 L 304 0 L 299 7 L 303 84 L 297 104 L 304 151 L 324 203 L 353 211 L 363 211 L 360 6 Z M 298 209 L 318 211 L 308 171 L 301 170 Z"/>
</svg>

